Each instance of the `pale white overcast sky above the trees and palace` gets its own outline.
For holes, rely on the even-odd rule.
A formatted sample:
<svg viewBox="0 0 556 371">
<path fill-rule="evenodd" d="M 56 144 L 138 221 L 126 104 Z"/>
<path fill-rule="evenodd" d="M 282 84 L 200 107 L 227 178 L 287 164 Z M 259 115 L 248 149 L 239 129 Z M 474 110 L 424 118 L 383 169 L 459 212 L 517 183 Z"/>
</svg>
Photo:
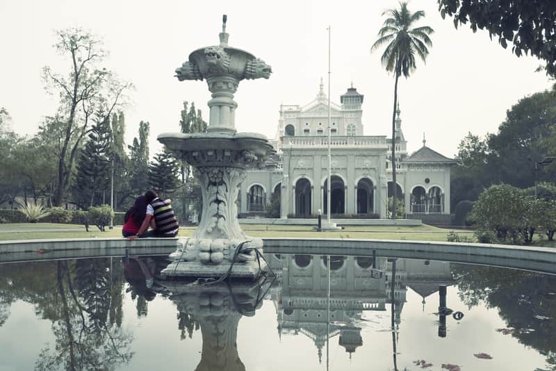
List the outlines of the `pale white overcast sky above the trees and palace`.
<svg viewBox="0 0 556 371">
<path fill-rule="evenodd" d="M 236 94 L 238 131 L 274 138 L 280 102 L 306 104 L 316 97 L 320 77 L 327 81 L 326 28 L 332 25 L 332 100 L 353 81 L 365 94 L 366 135 L 388 135 L 393 78 L 370 53 L 382 25 L 382 12 L 398 1 L 106 1 L 0 0 L 0 107 L 13 117 L 17 133 L 33 134 L 52 115 L 56 97 L 44 91 L 41 69 L 64 71 L 52 45 L 54 30 L 82 26 L 100 35 L 110 52 L 106 67 L 132 81 L 132 103 L 124 110 L 126 140 L 140 120 L 151 124 L 151 156 L 161 149 L 156 135 L 179 131 L 183 100 L 195 101 L 208 120 L 210 93 L 204 81 L 179 82 L 174 69 L 199 47 L 218 44 L 222 14 L 228 15 L 229 44 L 250 51 L 272 66 L 270 79 L 242 81 Z M 425 10 L 433 47 L 426 65 L 418 63 L 400 79 L 402 129 L 409 151 L 427 145 L 454 156 L 468 131 L 496 132 L 506 110 L 550 82 L 536 58 L 517 58 L 488 33 L 456 30 L 441 19 L 436 0 L 412 0 Z"/>
</svg>

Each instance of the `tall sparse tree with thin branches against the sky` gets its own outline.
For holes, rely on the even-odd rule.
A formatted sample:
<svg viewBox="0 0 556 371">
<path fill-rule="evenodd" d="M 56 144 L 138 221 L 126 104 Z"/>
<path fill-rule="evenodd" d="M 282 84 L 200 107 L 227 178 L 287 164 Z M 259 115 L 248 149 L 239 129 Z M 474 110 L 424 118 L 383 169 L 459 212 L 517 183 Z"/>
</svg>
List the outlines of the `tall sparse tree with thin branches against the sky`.
<svg viewBox="0 0 556 371">
<path fill-rule="evenodd" d="M 58 116 L 60 138 L 58 146 L 58 174 L 54 204 L 59 206 L 70 184 L 72 167 L 81 141 L 88 133 L 89 119 L 99 106 L 107 106 L 107 115 L 120 103 L 122 93 L 130 83 L 120 83 L 100 66 L 106 56 L 101 41 L 81 28 L 57 31 L 54 48 L 70 62 L 65 74 L 44 67 L 43 79 L 49 92 L 60 97 Z"/>
</svg>

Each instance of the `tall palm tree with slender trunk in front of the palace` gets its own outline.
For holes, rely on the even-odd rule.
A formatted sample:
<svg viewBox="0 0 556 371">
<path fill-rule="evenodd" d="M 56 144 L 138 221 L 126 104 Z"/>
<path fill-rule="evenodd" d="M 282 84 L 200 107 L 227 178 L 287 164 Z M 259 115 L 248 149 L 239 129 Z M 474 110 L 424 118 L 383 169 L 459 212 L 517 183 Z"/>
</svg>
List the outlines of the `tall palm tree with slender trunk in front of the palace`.
<svg viewBox="0 0 556 371">
<path fill-rule="evenodd" d="M 375 41 L 370 51 L 375 51 L 387 44 L 384 53 L 380 58 L 382 65 L 387 72 L 394 74 L 394 105 L 392 112 L 392 184 L 393 184 L 393 202 L 392 202 L 392 219 L 396 215 L 396 202 L 398 195 L 397 183 L 395 180 L 395 108 L 398 104 L 398 78 L 404 75 L 407 79 L 409 74 L 416 69 L 416 56 L 419 56 L 425 62 L 432 42 L 429 38 L 434 30 L 429 26 L 420 26 L 411 28 L 419 19 L 425 17 L 423 10 L 415 13 L 407 8 L 407 2 L 400 2 L 399 9 L 386 10 L 382 15 L 386 15 L 386 20 L 378 33 L 378 40 Z"/>
</svg>

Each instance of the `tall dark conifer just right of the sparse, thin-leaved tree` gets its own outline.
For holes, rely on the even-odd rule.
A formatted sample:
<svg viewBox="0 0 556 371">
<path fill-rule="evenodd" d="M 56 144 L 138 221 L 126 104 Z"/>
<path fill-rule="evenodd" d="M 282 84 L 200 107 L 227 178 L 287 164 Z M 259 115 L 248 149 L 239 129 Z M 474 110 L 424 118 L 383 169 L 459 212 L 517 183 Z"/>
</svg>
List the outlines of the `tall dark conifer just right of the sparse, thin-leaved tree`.
<svg viewBox="0 0 556 371">
<path fill-rule="evenodd" d="M 76 201 L 81 206 L 93 206 L 95 195 L 99 190 L 106 190 L 110 179 L 110 118 L 101 112 L 96 116 L 77 166 Z"/>
</svg>

